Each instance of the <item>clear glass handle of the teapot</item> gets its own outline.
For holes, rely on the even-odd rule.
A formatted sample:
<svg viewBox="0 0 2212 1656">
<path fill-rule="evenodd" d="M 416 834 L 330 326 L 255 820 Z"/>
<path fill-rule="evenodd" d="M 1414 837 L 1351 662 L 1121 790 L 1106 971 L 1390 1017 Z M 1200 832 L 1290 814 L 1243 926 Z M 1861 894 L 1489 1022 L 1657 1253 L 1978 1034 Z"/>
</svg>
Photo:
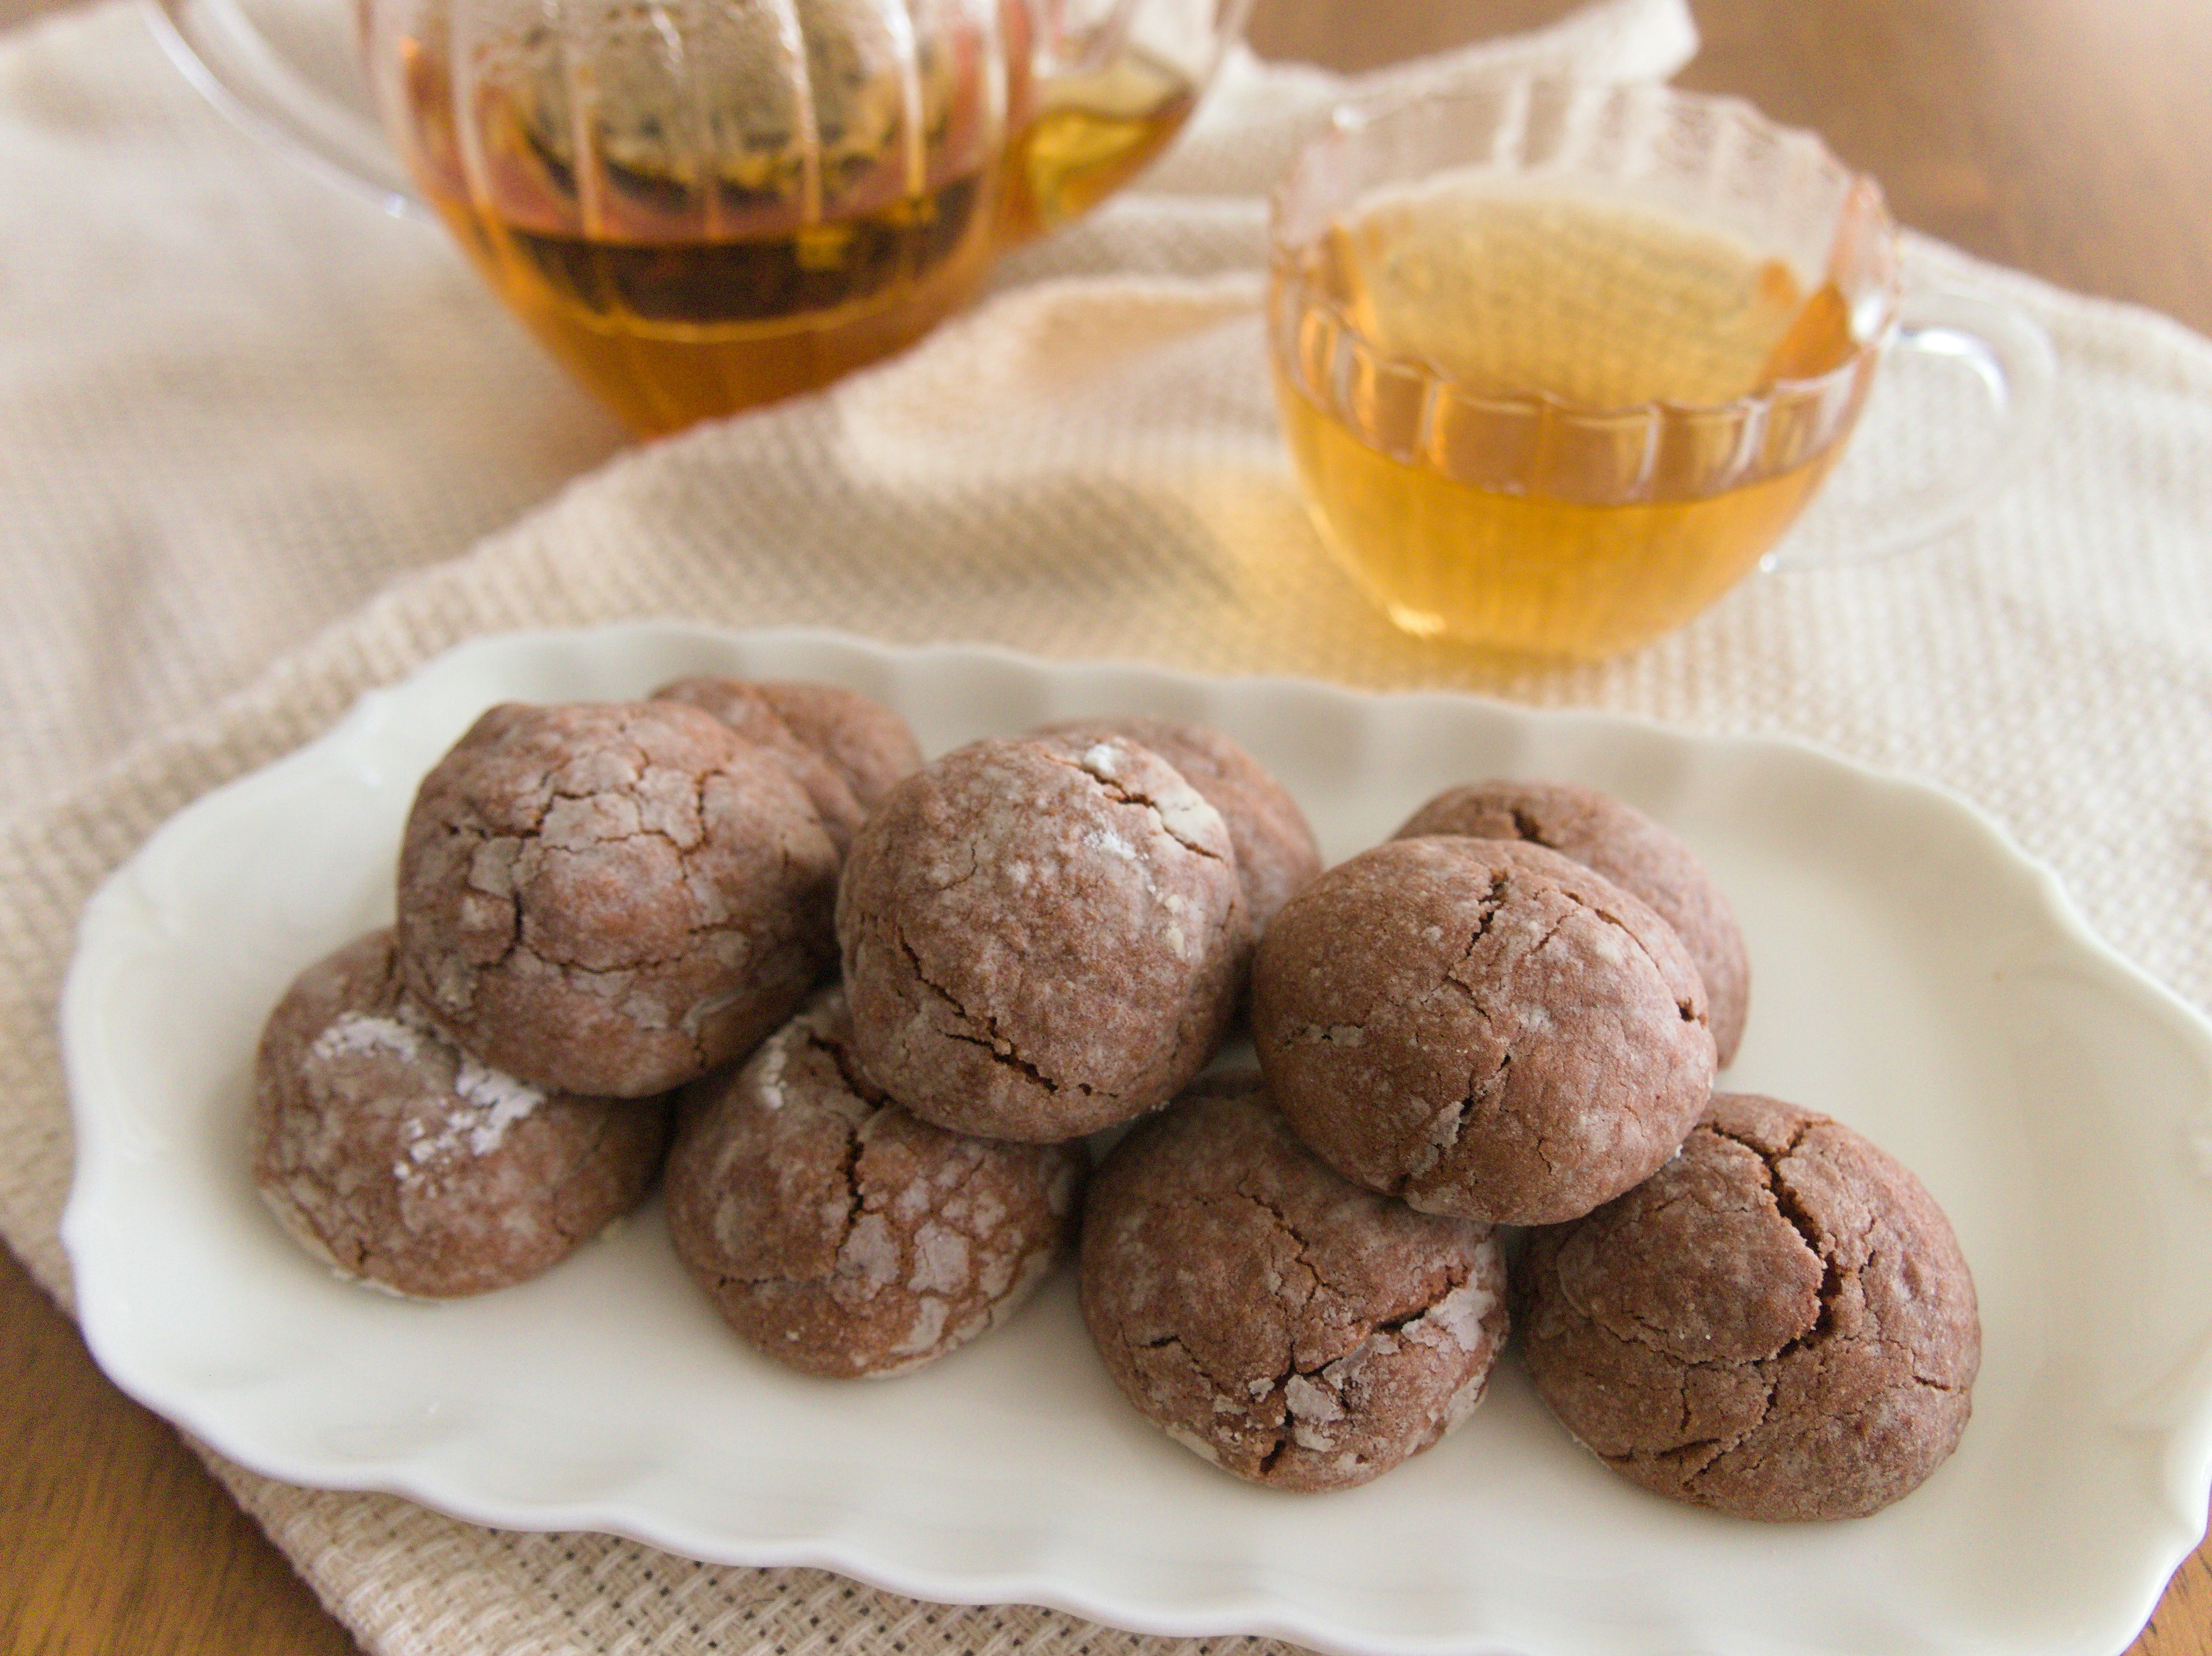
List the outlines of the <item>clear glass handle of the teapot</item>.
<svg viewBox="0 0 2212 1656">
<path fill-rule="evenodd" d="M 316 172 L 367 190 L 396 219 L 427 219 L 383 128 L 290 69 L 237 0 L 144 0 L 146 22 L 184 77 L 254 137 Z"/>
</svg>

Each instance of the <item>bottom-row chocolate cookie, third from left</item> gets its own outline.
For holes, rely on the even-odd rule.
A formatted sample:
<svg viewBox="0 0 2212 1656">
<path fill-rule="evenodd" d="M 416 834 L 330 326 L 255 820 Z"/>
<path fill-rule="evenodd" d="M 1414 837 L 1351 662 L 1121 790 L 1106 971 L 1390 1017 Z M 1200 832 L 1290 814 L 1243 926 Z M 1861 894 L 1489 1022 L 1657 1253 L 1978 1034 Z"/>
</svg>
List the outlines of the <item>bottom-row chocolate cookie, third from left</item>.
<svg viewBox="0 0 2212 1656">
<path fill-rule="evenodd" d="M 1283 1490 L 1349 1488 L 1425 1450 L 1482 1402 L 1506 1340 L 1491 1229 L 1347 1185 L 1250 1070 L 1106 1156 L 1082 1304 L 1141 1415 Z"/>
</svg>

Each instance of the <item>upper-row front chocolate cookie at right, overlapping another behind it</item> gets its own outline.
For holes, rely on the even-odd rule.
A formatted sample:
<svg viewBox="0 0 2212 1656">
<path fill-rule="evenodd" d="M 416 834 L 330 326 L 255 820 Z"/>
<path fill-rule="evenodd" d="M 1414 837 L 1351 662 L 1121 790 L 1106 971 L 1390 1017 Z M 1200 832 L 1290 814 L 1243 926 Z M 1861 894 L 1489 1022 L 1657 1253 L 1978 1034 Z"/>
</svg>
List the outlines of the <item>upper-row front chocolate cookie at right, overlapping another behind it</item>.
<svg viewBox="0 0 2212 1656">
<path fill-rule="evenodd" d="M 1674 931 L 1517 840 L 1391 840 L 1305 887 L 1261 937 L 1252 1041 L 1336 1172 L 1493 1225 L 1648 1178 L 1714 1068 Z"/>
</svg>

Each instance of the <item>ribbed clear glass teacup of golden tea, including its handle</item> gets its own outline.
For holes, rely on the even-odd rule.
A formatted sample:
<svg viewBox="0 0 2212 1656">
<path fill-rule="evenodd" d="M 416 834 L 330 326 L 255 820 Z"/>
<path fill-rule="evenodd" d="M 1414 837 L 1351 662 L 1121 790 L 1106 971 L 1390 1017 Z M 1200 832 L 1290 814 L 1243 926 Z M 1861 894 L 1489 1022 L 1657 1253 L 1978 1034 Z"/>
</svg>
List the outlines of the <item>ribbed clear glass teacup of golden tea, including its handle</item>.
<svg viewBox="0 0 2212 1656">
<path fill-rule="evenodd" d="M 1345 111 L 1276 190 L 1270 352 L 1323 539 L 1422 637 L 1608 657 L 1765 559 L 1885 352 L 1978 367 L 1997 440 L 1854 548 L 1955 524 L 2035 436 L 2020 312 L 1902 294 L 1880 188 L 1734 99 L 1509 84 Z"/>
</svg>

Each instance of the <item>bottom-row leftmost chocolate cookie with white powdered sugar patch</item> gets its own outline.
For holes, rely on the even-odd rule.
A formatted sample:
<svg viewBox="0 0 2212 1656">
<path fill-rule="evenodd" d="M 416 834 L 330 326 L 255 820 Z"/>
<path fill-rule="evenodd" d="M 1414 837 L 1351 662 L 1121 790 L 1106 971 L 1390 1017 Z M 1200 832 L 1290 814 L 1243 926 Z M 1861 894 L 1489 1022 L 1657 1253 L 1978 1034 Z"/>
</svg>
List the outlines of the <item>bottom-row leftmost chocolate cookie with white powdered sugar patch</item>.
<svg viewBox="0 0 2212 1656">
<path fill-rule="evenodd" d="M 261 1030 L 252 1167 L 343 1276 L 442 1300 L 504 1289 L 653 1185 L 659 1099 L 540 1092 L 458 1052 L 400 986 L 389 931 L 303 971 Z"/>
</svg>

